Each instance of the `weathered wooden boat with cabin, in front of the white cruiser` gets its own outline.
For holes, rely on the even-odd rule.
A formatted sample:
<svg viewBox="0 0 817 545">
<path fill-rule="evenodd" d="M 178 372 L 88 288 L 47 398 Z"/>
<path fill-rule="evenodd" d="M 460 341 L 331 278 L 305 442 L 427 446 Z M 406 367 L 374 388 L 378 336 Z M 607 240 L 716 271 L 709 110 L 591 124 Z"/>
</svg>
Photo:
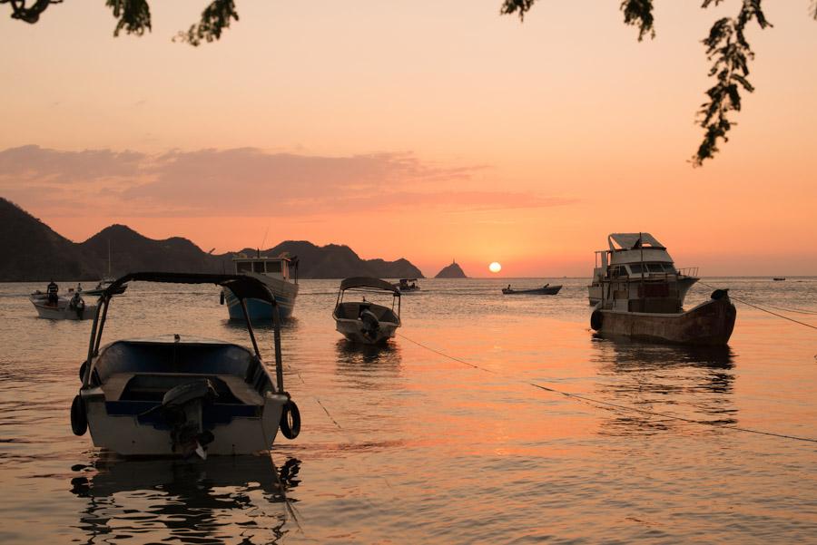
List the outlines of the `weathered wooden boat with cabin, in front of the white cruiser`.
<svg viewBox="0 0 817 545">
<path fill-rule="evenodd" d="M 729 290 L 716 289 L 709 300 L 684 310 L 681 275 L 674 269 L 658 274 L 645 268 L 648 260 L 656 258 L 650 255 L 647 238 L 626 242 L 629 249 L 615 252 L 613 262 L 600 278 L 601 301 L 590 315 L 590 326 L 601 336 L 681 345 L 725 345 L 732 336 L 737 316 Z M 665 252 L 663 248 L 659 251 Z M 642 265 L 637 273 L 632 268 L 636 264 Z"/>
</svg>

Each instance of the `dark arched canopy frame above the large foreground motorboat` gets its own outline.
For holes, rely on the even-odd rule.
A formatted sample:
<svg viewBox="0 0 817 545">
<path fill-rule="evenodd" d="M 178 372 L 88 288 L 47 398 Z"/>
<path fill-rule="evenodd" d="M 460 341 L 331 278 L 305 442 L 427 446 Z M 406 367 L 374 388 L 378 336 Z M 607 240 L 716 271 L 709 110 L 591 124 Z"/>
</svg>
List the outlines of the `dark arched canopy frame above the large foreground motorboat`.
<svg viewBox="0 0 817 545">
<path fill-rule="evenodd" d="M 99 355 L 105 320 L 108 316 L 108 307 L 111 304 L 111 299 L 113 299 L 113 296 L 116 295 L 114 292 L 118 287 L 121 287 L 130 281 L 158 282 L 166 284 L 215 284 L 216 286 L 226 287 L 227 289 L 231 290 L 235 297 L 237 297 L 241 302 L 241 311 L 244 314 L 244 322 L 247 324 L 247 332 L 250 334 L 252 349 L 255 352 L 255 357 L 258 358 L 260 362 L 262 361 L 261 351 L 258 348 L 258 342 L 256 341 L 255 333 L 252 330 L 250 314 L 247 312 L 246 299 L 261 299 L 262 301 L 270 303 L 274 309 L 274 312 L 272 313 L 272 331 L 275 348 L 276 386 L 279 394 L 286 394 L 283 389 L 283 364 L 281 362 L 281 315 L 279 313 L 278 302 L 275 300 L 275 296 L 272 295 L 270 288 L 261 282 L 261 280 L 246 275 L 207 273 L 134 272 L 117 278 L 112 284 L 106 287 L 103 290 L 102 295 L 99 297 L 99 305 L 97 305 L 96 314 L 94 315 L 94 325 L 91 326 L 91 339 L 88 343 L 88 357 L 85 360 L 88 365 L 85 365 L 83 388 L 87 388 L 91 381 L 91 361 L 95 356 Z"/>
</svg>

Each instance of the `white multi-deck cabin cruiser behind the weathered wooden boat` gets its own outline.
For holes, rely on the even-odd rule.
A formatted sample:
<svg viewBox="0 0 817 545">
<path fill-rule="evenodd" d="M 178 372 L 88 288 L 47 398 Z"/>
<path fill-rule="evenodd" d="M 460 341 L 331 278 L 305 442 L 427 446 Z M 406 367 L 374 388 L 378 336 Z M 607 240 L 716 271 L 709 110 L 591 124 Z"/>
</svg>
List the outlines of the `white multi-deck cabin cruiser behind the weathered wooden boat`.
<svg viewBox="0 0 817 545">
<path fill-rule="evenodd" d="M 675 275 L 682 305 L 689 288 L 700 279 L 697 267 L 676 269 L 664 245 L 649 233 L 612 233 L 607 236 L 607 246 L 609 249 L 596 251 L 593 279 L 587 287 L 591 305 L 598 304 L 602 299 L 604 277 Z"/>
</svg>

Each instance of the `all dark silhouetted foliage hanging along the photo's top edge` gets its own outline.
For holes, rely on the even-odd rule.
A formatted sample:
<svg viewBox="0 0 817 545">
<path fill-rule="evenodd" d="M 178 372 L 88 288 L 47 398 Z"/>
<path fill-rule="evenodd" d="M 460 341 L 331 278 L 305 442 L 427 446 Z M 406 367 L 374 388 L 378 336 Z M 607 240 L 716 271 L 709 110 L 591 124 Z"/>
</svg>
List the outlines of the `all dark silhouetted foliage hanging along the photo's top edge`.
<svg viewBox="0 0 817 545">
<path fill-rule="evenodd" d="M 741 110 L 741 90 L 753 92 L 749 83 L 748 63 L 754 53 L 743 31 L 753 20 L 763 29 L 772 26 L 763 15 L 763 0 L 741 0 L 741 10 L 736 17 L 723 17 L 715 21 L 709 35 L 704 38 L 706 57 L 713 63 L 709 70 L 710 77 L 716 83 L 706 91 L 708 102 L 701 105 L 698 112 L 698 124 L 704 128 L 704 141 L 692 158 L 694 166 L 701 166 L 705 160 L 712 159 L 718 151 L 718 141 L 728 141 L 726 133 L 735 124 L 729 121 L 729 112 Z M 45 9 L 52 4 L 61 4 L 63 0 L 0 0 L 0 5 L 9 4 L 12 18 L 36 23 Z M 719 5 L 723 0 L 703 0 L 701 5 Z M 151 31 L 151 10 L 148 0 L 105 0 L 113 10 L 116 27 L 113 35 L 118 36 L 124 30 L 126 34 L 142 35 Z M 518 15 L 521 21 L 536 0 L 503 0 L 500 8 L 502 15 Z M 655 20 L 653 0 L 621 0 L 621 11 L 625 24 L 638 28 L 638 41 L 645 35 L 655 38 Z M 817 0 L 810 0 L 809 15 L 817 20 Z M 185 42 L 198 46 L 202 42 L 213 42 L 221 38 L 221 31 L 230 28 L 231 20 L 238 21 L 238 12 L 233 0 L 212 0 L 204 8 L 200 21 L 192 24 L 186 32 L 177 34 L 173 41 Z"/>
</svg>

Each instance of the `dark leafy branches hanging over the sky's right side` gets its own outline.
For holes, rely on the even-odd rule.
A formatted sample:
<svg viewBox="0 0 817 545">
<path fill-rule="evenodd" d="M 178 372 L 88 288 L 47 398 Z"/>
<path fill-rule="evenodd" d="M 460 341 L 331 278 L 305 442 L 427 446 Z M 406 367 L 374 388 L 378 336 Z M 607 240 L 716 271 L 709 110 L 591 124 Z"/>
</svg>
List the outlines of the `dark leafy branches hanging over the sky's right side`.
<svg viewBox="0 0 817 545">
<path fill-rule="evenodd" d="M 701 7 L 719 5 L 723 0 L 703 0 Z M 524 20 L 525 14 L 533 7 L 536 0 L 505 0 L 500 10 L 503 15 L 517 14 Z M 694 166 L 701 166 L 707 159 L 712 159 L 718 151 L 718 141 L 728 141 L 726 133 L 736 123 L 729 121 L 729 112 L 740 112 L 741 91 L 753 92 L 754 87 L 747 79 L 749 61 L 754 53 L 746 41 L 744 30 L 753 20 L 763 29 L 772 26 L 763 15 L 762 0 L 742 0 L 741 10 L 736 17 L 723 17 L 715 21 L 709 35 L 704 38 L 706 57 L 713 64 L 709 76 L 714 77 L 715 84 L 706 91 L 708 102 L 701 105 L 698 112 L 698 124 L 704 128 L 704 141 L 692 158 Z M 622 0 L 621 11 L 625 15 L 625 24 L 638 27 L 638 41 L 645 34 L 655 38 L 653 27 L 652 0 Z M 817 20 L 817 0 L 811 0 L 809 15 Z"/>
</svg>

